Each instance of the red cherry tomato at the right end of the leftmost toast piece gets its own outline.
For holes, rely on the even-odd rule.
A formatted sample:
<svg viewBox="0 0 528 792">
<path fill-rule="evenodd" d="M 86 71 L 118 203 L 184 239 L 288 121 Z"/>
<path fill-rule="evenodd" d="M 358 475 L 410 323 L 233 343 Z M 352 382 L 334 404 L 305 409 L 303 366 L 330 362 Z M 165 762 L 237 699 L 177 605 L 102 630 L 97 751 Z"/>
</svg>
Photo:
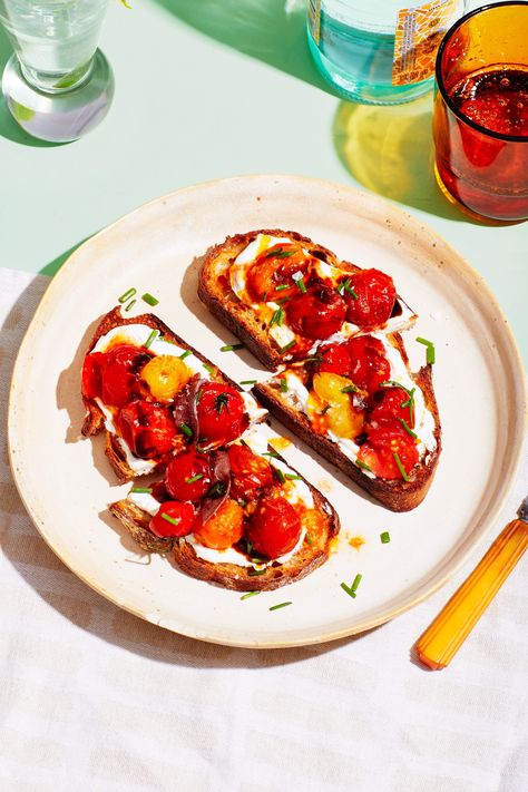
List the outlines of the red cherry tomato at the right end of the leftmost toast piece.
<svg viewBox="0 0 528 792">
<path fill-rule="evenodd" d="M 248 426 L 238 391 L 222 382 L 207 382 L 198 393 L 196 414 L 201 442 L 209 444 L 236 440 Z"/>
</svg>

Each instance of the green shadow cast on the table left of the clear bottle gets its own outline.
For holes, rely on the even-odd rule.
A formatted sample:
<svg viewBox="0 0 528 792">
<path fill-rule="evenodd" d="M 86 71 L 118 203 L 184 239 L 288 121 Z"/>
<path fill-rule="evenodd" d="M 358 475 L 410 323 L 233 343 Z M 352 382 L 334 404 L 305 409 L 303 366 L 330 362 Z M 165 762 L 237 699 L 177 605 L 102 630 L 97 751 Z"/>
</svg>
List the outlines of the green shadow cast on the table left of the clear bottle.
<svg viewBox="0 0 528 792">
<path fill-rule="evenodd" d="M 156 2 L 209 38 L 338 96 L 310 57 L 305 0 Z"/>
</svg>

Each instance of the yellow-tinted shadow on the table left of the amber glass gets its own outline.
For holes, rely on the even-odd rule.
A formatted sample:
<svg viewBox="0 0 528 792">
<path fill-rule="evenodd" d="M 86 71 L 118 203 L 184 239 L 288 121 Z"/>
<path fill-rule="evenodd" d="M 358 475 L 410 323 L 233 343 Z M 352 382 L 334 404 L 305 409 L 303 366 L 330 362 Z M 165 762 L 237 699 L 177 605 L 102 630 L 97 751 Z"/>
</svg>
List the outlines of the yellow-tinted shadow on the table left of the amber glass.
<svg viewBox="0 0 528 792">
<path fill-rule="evenodd" d="M 434 178 L 432 96 L 404 105 L 341 101 L 334 145 L 352 176 L 385 198 L 452 221 L 470 221 L 443 197 Z"/>
</svg>

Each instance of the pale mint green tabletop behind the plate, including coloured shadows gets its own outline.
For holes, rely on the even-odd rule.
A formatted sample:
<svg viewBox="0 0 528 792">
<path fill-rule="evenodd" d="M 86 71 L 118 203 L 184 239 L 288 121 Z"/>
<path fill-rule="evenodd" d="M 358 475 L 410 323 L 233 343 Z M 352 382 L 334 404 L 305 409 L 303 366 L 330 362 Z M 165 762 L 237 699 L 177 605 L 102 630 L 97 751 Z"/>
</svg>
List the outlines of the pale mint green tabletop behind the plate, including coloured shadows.
<svg viewBox="0 0 528 792">
<path fill-rule="evenodd" d="M 116 96 L 89 136 L 39 143 L 0 101 L 1 266 L 53 274 L 91 234 L 190 184 L 314 176 L 394 201 L 448 239 L 488 281 L 528 360 L 528 225 L 476 224 L 441 196 L 431 97 L 342 102 L 311 62 L 304 0 L 130 2 L 113 0 L 105 21 Z M 0 30 L 2 69 L 10 52 Z"/>
</svg>

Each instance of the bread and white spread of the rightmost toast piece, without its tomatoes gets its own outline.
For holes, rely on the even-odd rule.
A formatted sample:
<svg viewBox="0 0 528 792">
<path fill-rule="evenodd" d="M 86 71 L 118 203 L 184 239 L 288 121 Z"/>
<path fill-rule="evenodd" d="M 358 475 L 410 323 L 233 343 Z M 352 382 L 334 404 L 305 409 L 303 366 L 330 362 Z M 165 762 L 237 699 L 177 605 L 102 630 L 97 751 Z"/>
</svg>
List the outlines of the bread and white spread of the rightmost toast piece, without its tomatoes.
<svg viewBox="0 0 528 792">
<path fill-rule="evenodd" d="M 368 469 L 369 466 L 362 463 L 358 456 L 358 453 L 360 453 L 361 443 L 369 439 L 364 432 L 360 434 L 358 444 L 354 444 L 354 453 L 348 441 L 344 443 L 340 442 L 339 437 L 327 431 L 327 424 L 324 423 L 325 419 L 320 417 L 321 413 L 315 415 L 314 410 L 306 409 L 306 402 L 304 404 L 301 403 L 302 399 L 300 400 L 299 394 L 300 388 L 299 384 L 295 387 L 295 382 L 304 383 L 307 393 L 311 392 L 313 397 L 311 383 L 313 383 L 314 370 L 316 368 L 314 368 L 313 364 L 293 364 L 291 369 L 282 371 L 267 382 L 258 383 L 253 391 L 258 401 L 264 404 L 275 418 L 284 423 L 292 432 L 297 434 L 307 446 L 317 451 L 324 459 L 335 465 L 335 467 L 344 472 L 354 483 L 362 487 L 369 495 L 392 511 L 409 511 L 410 509 L 414 509 L 423 500 L 434 476 L 441 451 L 440 417 L 432 387 L 432 366 L 426 365 L 421 368 L 417 374 L 412 374 L 409 371 L 409 361 L 401 335 L 399 333 L 389 334 L 384 339 L 384 343 L 387 346 L 391 346 L 392 351 L 390 356 L 393 364 L 391 365 L 391 375 L 388 377 L 390 382 L 382 383 L 382 388 L 377 390 L 378 397 L 382 395 L 382 389 L 387 388 L 390 383 L 395 385 L 397 382 L 399 382 L 403 385 L 408 394 L 415 389 L 411 399 L 413 399 L 413 404 L 419 404 L 420 409 L 420 415 L 417 414 L 414 432 L 412 432 L 411 429 L 411 437 L 414 434 L 414 438 L 417 438 L 418 434 L 414 442 L 418 443 L 419 440 L 421 441 L 419 447 L 420 458 L 412 469 L 405 471 L 407 480 L 404 480 L 402 476 L 398 478 L 383 478 L 373 475 L 372 470 Z M 398 362 L 397 356 L 400 358 L 400 362 L 395 366 L 394 363 Z M 397 369 L 398 373 L 393 373 L 394 369 Z M 403 372 L 407 372 L 407 377 Z M 295 378 L 293 391 L 290 389 L 285 390 L 283 384 L 284 381 L 287 382 L 289 375 L 291 374 Z M 350 398 L 353 397 L 355 397 L 355 394 L 351 393 Z M 378 397 L 374 393 L 369 398 L 368 403 L 370 404 L 370 409 L 372 409 L 372 404 Z M 306 400 L 309 403 L 310 398 L 311 397 Z M 361 400 L 362 398 L 360 394 L 359 399 Z M 403 395 L 403 399 L 407 397 Z M 414 409 L 418 413 L 417 407 Z M 372 412 L 369 412 L 368 407 L 366 426 L 369 414 L 372 414 Z M 408 426 L 407 430 L 409 431 L 409 429 Z M 329 434 L 332 434 L 332 437 L 329 437 Z M 402 430 L 402 437 L 405 438 L 404 430 Z M 427 438 L 427 441 L 423 441 L 423 438 Z M 412 443 L 412 440 L 410 442 Z"/>
</svg>

